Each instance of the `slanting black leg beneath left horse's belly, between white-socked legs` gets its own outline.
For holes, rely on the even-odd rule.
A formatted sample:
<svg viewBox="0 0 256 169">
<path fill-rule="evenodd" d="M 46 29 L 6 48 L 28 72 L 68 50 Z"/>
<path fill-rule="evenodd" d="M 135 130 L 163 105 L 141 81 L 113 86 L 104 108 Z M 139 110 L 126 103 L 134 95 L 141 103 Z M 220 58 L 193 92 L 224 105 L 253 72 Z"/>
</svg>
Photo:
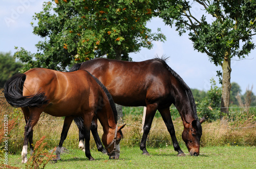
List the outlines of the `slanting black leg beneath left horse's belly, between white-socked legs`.
<svg viewBox="0 0 256 169">
<path fill-rule="evenodd" d="M 61 135 L 60 135 L 59 145 L 55 151 L 55 153 L 57 155 L 56 160 L 60 160 L 61 147 L 63 145 L 64 140 L 67 138 L 68 131 L 69 131 L 69 128 L 70 128 L 70 125 L 71 125 L 73 119 L 74 118 L 71 118 L 71 117 L 65 117 L 65 120 L 63 123 L 63 128 L 62 128 Z"/>
</svg>

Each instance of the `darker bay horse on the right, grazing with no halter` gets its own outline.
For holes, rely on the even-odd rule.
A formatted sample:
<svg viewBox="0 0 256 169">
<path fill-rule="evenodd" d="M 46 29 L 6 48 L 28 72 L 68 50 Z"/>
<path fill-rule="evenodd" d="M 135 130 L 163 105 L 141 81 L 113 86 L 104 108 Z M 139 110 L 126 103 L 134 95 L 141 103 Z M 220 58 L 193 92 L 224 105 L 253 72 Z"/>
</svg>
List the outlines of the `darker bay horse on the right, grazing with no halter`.
<svg viewBox="0 0 256 169">
<path fill-rule="evenodd" d="M 184 140 L 190 155 L 199 155 L 201 123 L 193 94 L 183 79 L 165 62 L 166 59 L 153 59 L 143 62 L 126 62 L 109 59 L 93 59 L 73 66 L 70 71 L 87 70 L 97 77 L 109 90 L 115 103 L 124 106 L 146 106 L 145 123 L 140 149 L 146 150 L 146 138 L 156 110 L 159 110 L 163 121 L 172 137 L 175 151 L 179 156 L 184 153 L 178 144 L 169 106 L 174 104 L 183 121 Z M 76 123 L 81 123 L 75 119 Z M 93 135 L 96 135 L 97 120 L 92 124 Z M 82 136 L 79 135 L 79 139 Z M 96 139 L 95 139 L 96 140 Z M 100 145 L 98 143 L 97 145 Z"/>
</svg>

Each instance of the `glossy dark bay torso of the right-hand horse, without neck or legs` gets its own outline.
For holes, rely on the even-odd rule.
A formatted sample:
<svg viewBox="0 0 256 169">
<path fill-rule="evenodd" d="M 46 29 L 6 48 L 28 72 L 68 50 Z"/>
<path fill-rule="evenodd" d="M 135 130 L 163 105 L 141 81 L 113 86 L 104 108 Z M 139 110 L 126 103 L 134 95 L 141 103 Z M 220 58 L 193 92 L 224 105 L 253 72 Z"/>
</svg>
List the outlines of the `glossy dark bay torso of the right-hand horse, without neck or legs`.
<svg viewBox="0 0 256 169">
<path fill-rule="evenodd" d="M 146 105 L 146 97 L 154 102 L 170 93 L 170 72 L 158 59 L 127 62 L 100 58 L 82 63 L 80 69 L 97 77 L 121 105 Z"/>
</svg>

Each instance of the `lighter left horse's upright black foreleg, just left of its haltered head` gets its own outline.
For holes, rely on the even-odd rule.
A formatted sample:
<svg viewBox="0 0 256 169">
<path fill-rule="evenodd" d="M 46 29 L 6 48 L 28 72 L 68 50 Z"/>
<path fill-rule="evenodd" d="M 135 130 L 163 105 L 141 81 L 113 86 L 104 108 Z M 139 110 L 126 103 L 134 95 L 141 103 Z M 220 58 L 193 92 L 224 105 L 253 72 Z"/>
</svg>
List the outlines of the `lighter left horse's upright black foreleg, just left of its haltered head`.
<svg viewBox="0 0 256 169">
<path fill-rule="evenodd" d="M 84 115 L 83 117 L 83 127 L 84 127 L 84 141 L 86 144 L 86 156 L 87 158 L 92 161 L 94 158 L 91 155 L 90 152 L 90 128 L 92 123 L 93 117 L 90 116 L 90 113 L 88 115 Z"/>
</svg>

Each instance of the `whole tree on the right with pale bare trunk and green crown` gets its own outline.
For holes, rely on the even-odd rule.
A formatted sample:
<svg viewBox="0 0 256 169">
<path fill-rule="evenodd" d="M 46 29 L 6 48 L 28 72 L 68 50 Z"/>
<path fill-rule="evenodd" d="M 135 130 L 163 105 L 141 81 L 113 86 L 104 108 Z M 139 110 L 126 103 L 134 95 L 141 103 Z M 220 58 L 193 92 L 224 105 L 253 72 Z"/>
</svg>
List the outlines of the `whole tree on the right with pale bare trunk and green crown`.
<svg viewBox="0 0 256 169">
<path fill-rule="evenodd" d="M 158 12 L 166 24 L 175 23 L 182 35 L 189 31 L 189 39 L 195 50 L 206 53 L 210 62 L 222 67 L 218 75 L 222 77 L 221 111 L 228 114 L 230 98 L 230 73 L 232 58 L 244 59 L 255 45 L 256 1 L 239 0 L 195 0 L 206 15 L 197 18 L 192 15 L 187 1 L 159 1 Z"/>
</svg>

